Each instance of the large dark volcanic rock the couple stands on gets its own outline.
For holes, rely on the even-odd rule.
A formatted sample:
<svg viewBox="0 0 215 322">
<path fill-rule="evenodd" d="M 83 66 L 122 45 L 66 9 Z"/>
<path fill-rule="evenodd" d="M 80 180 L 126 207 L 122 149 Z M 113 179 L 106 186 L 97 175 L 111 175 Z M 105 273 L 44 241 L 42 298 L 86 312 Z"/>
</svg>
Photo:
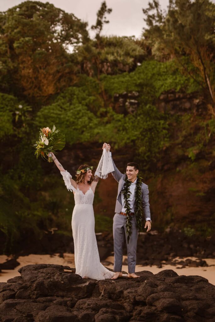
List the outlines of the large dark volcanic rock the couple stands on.
<svg viewBox="0 0 215 322">
<path fill-rule="evenodd" d="M 173 270 L 93 280 L 60 265 L 27 265 L 0 283 L 1 322 L 214 321 L 215 286 Z"/>
</svg>

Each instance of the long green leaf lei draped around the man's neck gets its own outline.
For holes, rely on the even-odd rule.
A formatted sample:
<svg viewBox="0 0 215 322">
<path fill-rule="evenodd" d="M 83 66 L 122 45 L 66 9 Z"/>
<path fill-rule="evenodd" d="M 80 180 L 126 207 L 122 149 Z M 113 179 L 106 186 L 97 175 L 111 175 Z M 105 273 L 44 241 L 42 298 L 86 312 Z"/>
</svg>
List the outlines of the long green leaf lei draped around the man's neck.
<svg viewBox="0 0 215 322">
<path fill-rule="evenodd" d="M 142 181 L 139 175 L 137 175 L 137 181 L 136 181 L 136 189 L 135 189 L 135 219 L 136 219 L 136 226 L 140 233 L 140 231 L 143 228 L 143 202 L 142 202 L 142 190 L 141 185 Z M 129 213 L 131 212 L 131 205 L 128 201 L 128 198 L 130 197 L 130 190 L 129 187 L 132 184 L 131 181 L 126 178 L 125 185 L 122 190 L 122 194 L 124 195 L 125 200 L 125 208 L 126 208 L 126 234 L 127 234 L 127 242 L 129 243 L 129 239 L 132 233 L 132 222 L 131 222 L 131 216 Z"/>
</svg>

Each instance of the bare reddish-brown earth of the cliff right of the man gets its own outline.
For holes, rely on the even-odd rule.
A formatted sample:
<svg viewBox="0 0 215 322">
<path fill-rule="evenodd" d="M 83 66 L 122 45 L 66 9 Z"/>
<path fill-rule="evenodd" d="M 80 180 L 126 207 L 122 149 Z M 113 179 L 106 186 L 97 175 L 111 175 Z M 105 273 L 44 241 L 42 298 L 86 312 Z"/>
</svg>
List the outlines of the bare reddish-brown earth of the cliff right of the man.
<svg viewBox="0 0 215 322">
<path fill-rule="evenodd" d="M 207 164 L 202 168 L 200 165 L 201 161 L 186 165 L 183 171 L 177 172 L 177 168 L 164 171 L 149 181 L 151 209 L 157 225 L 177 223 L 197 228 L 202 225 L 205 232 L 211 232 L 215 219 L 215 171 Z"/>
</svg>

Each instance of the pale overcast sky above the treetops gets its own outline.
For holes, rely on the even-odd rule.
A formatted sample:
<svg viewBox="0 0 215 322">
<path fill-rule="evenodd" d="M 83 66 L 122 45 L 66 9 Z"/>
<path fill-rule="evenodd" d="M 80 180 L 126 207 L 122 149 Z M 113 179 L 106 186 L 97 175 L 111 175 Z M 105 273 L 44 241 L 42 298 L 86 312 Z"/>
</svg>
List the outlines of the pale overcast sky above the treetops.
<svg viewBox="0 0 215 322">
<path fill-rule="evenodd" d="M 40 0 L 45 3 L 46 0 Z M 6 11 L 23 1 L 0 0 L 0 11 Z M 96 23 L 96 13 L 102 0 L 51 0 L 48 1 L 55 7 L 61 8 L 68 13 L 73 13 L 76 17 L 89 23 L 89 27 Z M 160 0 L 162 8 L 166 9 L 169 0 Z M 108 8 L 112 8 L 112 13 L 107 15 L 109 24 L 104 27 L 103 34 L 118 36 L 141 36 L 145 26 L 142 8 L 146 8 L 148 0 L 106 0 Z M 90 32 L 94 35 L 93 32 Z"/>
</svg>

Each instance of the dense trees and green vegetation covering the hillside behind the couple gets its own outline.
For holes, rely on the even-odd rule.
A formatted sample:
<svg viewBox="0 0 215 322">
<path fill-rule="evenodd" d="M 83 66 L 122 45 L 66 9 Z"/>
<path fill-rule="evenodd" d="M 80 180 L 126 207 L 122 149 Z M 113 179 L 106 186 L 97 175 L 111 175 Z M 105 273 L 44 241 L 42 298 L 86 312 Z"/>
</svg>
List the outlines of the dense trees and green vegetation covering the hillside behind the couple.
<svg viewBox="0 0 215 322">
<path fill-rule="evenodd" d="M 156 164 L 177 140 L 187 144 L 172 153 L 186 155 L 192 169 L 204 151 L 214 157 L 215 5 L 170 0 L 162 12 L 153 0 L 143 9 L 141 39 L 102 35 L 109 14 L 104 1 L 90 38 L 87 23 L 48 2 L 25 1 L 0 13 L 1 251 L 52 227 L 71 234 L 72 196 L 52 165 L 33 155 L 44 126 L 55 124 L 65 134 L 65 155 L 98 149 L 104 141 L 119 155 L 130 149 L 148 179 L 160 175 Z M 159 110 L 158 98 L 171 90 L 201 97 L 203 114 Z M 124 92 L 138 93 L 135 111 L 116 109 L 116 94 Z M 92 160 L 98 155 L 85 155 L 85 162 Z M 169 212 L 163 215 L 165 228 Z M 111 219 L 96 213 L 96 225 L 97 231 L 110 229 Z"/>
</svg>

